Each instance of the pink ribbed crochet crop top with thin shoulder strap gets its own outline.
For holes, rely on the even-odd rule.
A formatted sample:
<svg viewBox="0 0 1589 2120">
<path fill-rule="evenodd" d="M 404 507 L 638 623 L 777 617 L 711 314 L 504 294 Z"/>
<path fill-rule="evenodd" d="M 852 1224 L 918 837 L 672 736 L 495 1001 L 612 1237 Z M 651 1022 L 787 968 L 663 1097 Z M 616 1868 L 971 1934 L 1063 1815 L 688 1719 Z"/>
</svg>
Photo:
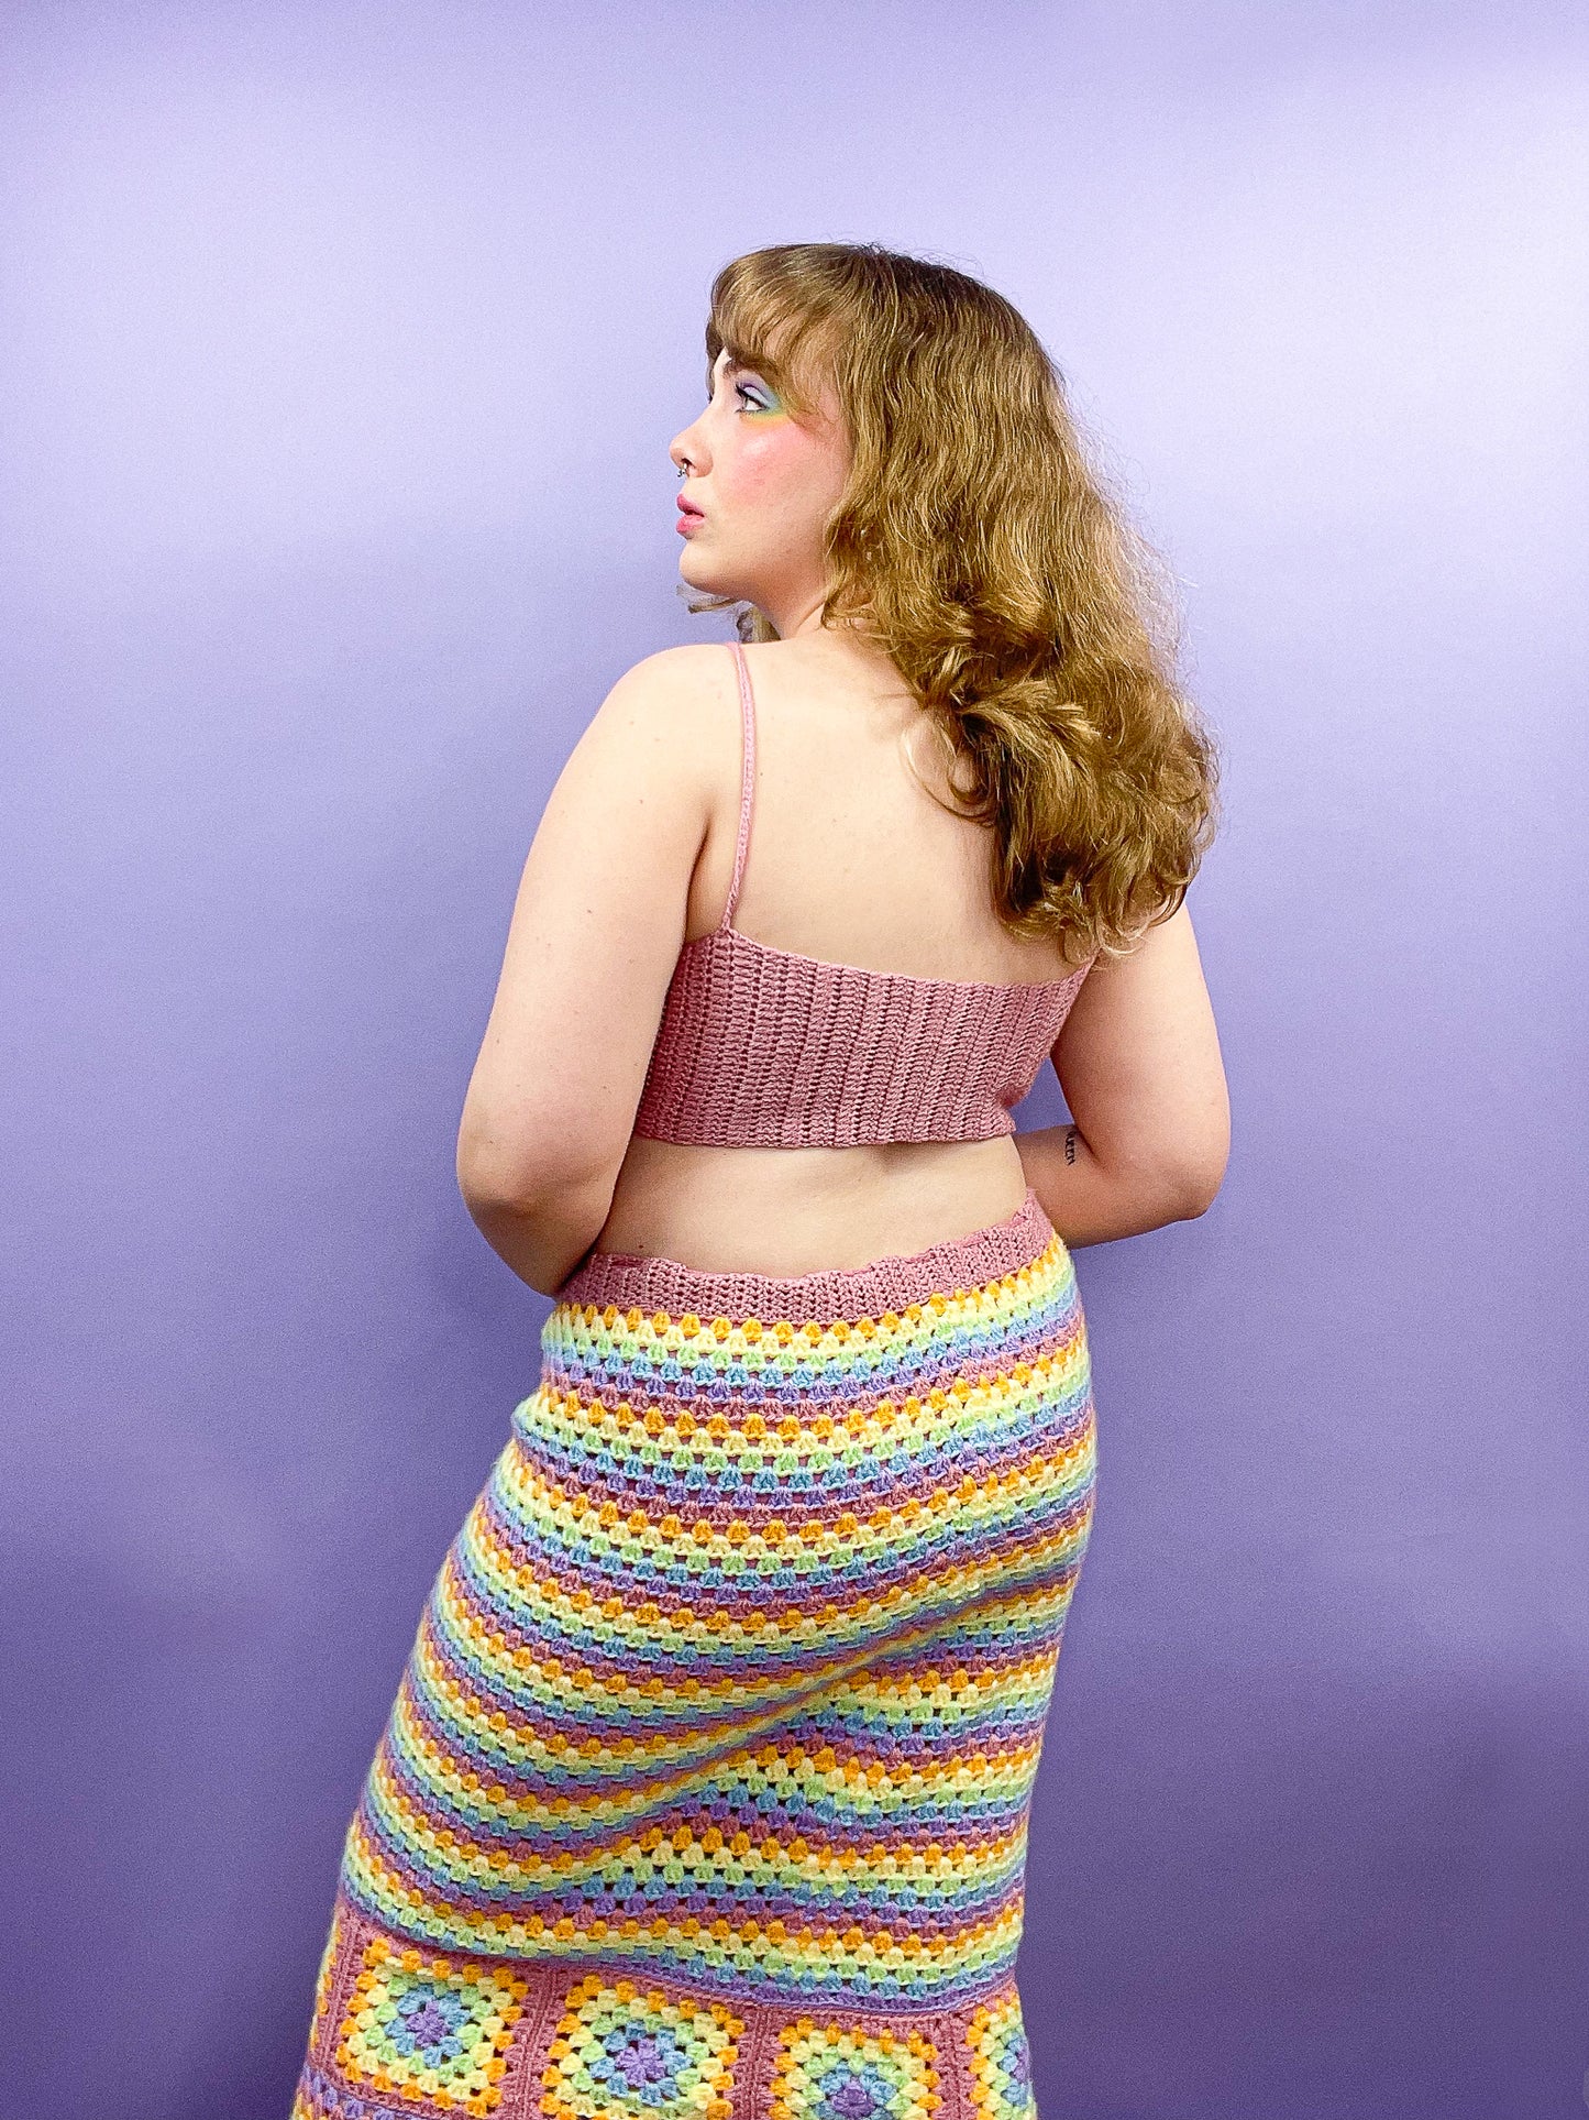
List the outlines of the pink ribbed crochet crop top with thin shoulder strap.
<svg viewBox="0 0 1589 2120">
<path fill-rule="evenodd" d="M 733 882 L 718 926 L 678 954 L 636 1134 L 782 1149 L 1013 1134 L 1011 1105 L 1036 1081 L 1089 967 L 1038 986 L 917 979 L 742 935 L 756 704 L 744 649 L 731 647 L 744 719 Z"/>
</svg>

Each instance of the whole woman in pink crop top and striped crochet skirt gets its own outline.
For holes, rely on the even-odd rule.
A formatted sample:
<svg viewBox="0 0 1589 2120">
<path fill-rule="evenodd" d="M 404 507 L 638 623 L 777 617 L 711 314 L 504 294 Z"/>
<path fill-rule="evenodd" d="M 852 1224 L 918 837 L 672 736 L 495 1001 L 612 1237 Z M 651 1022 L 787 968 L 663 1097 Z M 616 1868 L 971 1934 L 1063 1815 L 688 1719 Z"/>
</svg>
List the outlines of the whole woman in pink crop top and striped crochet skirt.
<svg viewBox="0 0 1589 2120">
<path fill-rule="evenodd" d="M 458 1177 L 555 1306 L 347 1834 L 297 2120 L 1030 2116 L 1070 1247 L 1199 1215 L 1210 750 L 1002 297 L 725 267 L 693 608 L 525 863 Z M 754 823 L 754 831 L 752 831 Z M 1053 1054 L 1074 1124 L 1013 1134 Z"/>
</svg>

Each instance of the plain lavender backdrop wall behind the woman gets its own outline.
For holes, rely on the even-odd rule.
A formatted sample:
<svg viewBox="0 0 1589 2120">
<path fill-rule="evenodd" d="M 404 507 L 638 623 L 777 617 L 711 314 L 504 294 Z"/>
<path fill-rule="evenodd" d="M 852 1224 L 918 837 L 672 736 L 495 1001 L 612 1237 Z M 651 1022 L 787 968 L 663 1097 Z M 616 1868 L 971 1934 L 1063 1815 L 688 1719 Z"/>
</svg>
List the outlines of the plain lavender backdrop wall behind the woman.
<svg viewBox="0 0 1589 2120">
<path fill-rule="evenodd" d="M 544 1302 L 453 1189 L 712 271 L 1036 322 L 1182 583 L 1214 1211 L 1081 1257 L 1045 2120 L 1581 2112 L 1576 4 L 0 15 L 6 2109 L 280 2120 Z M 1053 1085 L 1030 1117 L 1055 1117 Z"/>
</svg>

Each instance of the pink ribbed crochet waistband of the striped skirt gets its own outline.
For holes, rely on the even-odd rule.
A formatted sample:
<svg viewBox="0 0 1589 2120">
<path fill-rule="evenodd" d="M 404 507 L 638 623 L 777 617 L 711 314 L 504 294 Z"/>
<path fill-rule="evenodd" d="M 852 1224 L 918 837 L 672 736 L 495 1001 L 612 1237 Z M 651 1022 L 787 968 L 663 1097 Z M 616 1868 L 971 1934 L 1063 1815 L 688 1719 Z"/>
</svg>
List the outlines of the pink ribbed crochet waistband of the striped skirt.
<svg viewBox="0 0 1589 2120">
<path fill-rule="evenodd" d="M 1028 1185 L 1025 1200 L 1004 1221 L 968 1236 L 947 1236 L 926 1251 L 890 1253 L 867 1266 L 833 1266 L 816 1274 L 731 1274 L 682 1259 L 633 1251 L 591 1251 L 557 1289 L 559 1304 L 617 1304 L 619 1310 L 665 1310 L 669 1317 L 811 1321 L 879 1317 L 977 1289 L 1030 1266 L 1053 1242 L 1053 1223 Z"/>
</svg>

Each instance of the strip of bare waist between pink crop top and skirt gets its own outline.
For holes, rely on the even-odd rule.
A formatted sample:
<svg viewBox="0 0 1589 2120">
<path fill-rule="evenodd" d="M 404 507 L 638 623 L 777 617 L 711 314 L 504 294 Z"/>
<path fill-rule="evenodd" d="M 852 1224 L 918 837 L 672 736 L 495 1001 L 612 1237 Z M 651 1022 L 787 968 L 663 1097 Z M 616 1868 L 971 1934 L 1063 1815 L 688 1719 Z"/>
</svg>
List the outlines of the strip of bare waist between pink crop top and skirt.
<svg viewBox="0 0 1589 2120">
<path fill-rule="evenodd" d="M 636 1136 L 587 1255 L 788 1280 L 962 1242 L 1025 1206 L 1013 1136 L 718 1149 Z M 583 1268 L 581 1268 L 583 1270 Z"/>
</svg>

